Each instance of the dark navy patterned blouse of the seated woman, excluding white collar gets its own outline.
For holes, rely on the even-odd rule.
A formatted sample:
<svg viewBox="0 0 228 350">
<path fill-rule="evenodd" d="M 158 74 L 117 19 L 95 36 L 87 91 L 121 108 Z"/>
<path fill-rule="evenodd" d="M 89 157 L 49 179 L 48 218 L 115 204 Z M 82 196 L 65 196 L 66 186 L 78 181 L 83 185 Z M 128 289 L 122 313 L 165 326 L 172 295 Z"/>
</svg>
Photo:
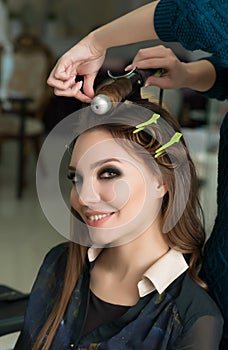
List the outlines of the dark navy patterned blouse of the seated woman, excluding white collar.
<svg viewBox="0 0 228 350">
<path fill-rule="evenodd" d="M 31 292 L 15 350 L 31 350 L 63 286 L 68 244 L 46 256 Z M 221 314 L 189 277 L 178 277 L 162 294 L 154 291 L 115 320 L 82 334 L 88 314 L 90 271 L 87 261 L 72 293 L 50 350 L 216 350 L 222 334 Z"/>
</svg>

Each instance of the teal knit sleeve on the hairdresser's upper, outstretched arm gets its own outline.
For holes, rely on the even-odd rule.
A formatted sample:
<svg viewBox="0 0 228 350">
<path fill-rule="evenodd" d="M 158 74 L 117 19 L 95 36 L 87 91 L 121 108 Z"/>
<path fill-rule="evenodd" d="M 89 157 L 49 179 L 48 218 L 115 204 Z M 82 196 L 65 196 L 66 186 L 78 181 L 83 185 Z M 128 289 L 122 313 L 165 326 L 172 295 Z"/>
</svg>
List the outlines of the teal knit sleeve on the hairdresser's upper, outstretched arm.
<svg viewBox="0 0 228 350">
<path fill-rule="evenodd" d="M 160 0 L 154 26 L 162 41 L 214 53 L 228 66 L 227 18 L 227 0 Z"/>
</svg>

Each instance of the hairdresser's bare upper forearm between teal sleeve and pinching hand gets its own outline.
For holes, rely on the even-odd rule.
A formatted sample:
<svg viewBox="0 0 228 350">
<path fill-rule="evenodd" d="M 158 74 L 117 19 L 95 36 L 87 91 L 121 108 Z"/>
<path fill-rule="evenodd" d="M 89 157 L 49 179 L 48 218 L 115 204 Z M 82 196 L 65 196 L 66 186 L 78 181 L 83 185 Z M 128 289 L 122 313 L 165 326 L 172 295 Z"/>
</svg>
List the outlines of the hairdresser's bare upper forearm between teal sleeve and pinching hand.
<svg viewBox="0 0 228 350">
<path fill-rule="evenodd" d="M 90 33 L 94 46 L 106 50 L 114 46 L 157 39 L 153 23 L 158 2 L 142 6 Z"/>
</svg>

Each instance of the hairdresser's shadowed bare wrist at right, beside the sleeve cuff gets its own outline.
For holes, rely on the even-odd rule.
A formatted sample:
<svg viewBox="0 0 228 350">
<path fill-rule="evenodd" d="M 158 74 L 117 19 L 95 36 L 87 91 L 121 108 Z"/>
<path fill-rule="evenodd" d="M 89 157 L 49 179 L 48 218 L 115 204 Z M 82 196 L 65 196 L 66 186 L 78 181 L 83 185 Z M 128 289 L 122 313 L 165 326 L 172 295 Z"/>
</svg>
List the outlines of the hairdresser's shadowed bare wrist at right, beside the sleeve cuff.
<svg viewBox="0 0 228 350">
<path fill-rule="evenodd" d="M 216 71 L 213 64 L 204 59 L 186 63 L 186 76 L 184 87 L 205 92 L 211 89 L 216 80 Z"/>
</svg>

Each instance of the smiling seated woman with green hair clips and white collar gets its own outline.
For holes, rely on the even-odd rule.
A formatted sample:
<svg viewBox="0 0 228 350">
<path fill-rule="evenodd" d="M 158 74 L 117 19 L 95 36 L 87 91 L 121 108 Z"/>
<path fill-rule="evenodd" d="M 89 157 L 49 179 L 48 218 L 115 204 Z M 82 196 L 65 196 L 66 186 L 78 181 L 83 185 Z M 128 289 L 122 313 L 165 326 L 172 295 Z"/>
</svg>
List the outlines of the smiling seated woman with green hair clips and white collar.
<svg viewBox="0 0 228 350">
<path fill-rule="evenodd" d="M 87 111 L 68 172 L 72 241 L 46 256 L 15 349 L 218 349 L 222 317 L 198 277 L 197 178 L 176 120 L 146 101 Z"/>
</svg>

